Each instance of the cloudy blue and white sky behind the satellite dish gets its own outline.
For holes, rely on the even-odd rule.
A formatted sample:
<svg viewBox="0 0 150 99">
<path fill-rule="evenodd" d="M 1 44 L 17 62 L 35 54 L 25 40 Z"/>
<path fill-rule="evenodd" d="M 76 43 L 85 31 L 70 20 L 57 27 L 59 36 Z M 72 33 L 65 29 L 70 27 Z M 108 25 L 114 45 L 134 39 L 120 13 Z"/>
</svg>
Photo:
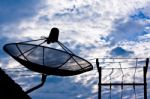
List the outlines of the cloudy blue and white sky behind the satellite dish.
<svg viewBox="0 0 150 99">
<path fill-rule="evenodd" d="M 0 0 L 0 67 L 24 90 L 38 84 L 40 74 L 26 70 L 3 46 L 47 37 L 57 27 L 59 41 L 91 62 L 94 70 L 71 77 L 49 76 L 42 88 L 29 95 L 33 99 L 97 99 L 98 73 L 93 59 L 150 58 L 149 5 L 149 0 Z M 125 99 L 129 97 L 134 99 L 134 95 L 124 94 Z"/>
</svg>

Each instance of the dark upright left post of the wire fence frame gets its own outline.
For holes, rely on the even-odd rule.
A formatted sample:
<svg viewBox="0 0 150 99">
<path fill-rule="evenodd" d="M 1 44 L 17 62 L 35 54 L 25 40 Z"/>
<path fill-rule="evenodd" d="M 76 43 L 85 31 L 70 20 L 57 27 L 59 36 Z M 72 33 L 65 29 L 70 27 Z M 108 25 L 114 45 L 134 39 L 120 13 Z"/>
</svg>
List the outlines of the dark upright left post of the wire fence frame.
<svg viewBox="0 0 150 99">
<path fill-rule="evenodd" d="M 101 76 L 102 76 L 102 68 L 99 67 L 99 61 L 98 59 L 96 59 L 96 66 L 97 66 L 97 70 L 99 73 L 99 83 L 98 83 L 98 99 L 101 99 Z"/>
</svg>

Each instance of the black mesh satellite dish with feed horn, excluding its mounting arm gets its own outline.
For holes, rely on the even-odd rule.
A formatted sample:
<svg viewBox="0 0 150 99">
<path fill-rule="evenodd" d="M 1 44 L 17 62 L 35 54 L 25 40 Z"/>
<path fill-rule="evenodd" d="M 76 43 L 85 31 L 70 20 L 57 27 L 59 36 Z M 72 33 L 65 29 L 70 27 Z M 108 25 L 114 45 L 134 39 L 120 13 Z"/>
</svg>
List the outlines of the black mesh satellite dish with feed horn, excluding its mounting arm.
<svg viewBox="0 0 150 99">
<path fill-rule="evenodd" d="M 26 68 L 46 75 L 72 76 L 92 70 L 88 61 L 58 41 L 58 35 L 59 30 L 52 28 L 48 38 L 38 39 L 42 41 L 40 44 L 29 43 L 38 40 L 10 43 L 4 50 Z M 63 50 L 43 46 L 44 43 L 57 43 Z"/>
</svg>

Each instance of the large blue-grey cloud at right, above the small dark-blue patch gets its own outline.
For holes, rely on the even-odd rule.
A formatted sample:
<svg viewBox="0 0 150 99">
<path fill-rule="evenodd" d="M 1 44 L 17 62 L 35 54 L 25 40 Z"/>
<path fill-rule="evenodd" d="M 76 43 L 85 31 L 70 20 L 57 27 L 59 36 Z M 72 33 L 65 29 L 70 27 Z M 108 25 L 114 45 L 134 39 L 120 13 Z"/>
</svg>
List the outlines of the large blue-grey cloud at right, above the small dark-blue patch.
<svg viewBox="0 0 150 99">
<path fill-rule="evenodd" d="M 147 21 L 140 20 L 117 20 L 114 23 L 114 30 L 107 37 L 112 44 L 117 44 L 122 41 L 138 41 L 140 36 L 148 34 L 146 32 L 146 27 L 150 24 Z"/>
</svg>

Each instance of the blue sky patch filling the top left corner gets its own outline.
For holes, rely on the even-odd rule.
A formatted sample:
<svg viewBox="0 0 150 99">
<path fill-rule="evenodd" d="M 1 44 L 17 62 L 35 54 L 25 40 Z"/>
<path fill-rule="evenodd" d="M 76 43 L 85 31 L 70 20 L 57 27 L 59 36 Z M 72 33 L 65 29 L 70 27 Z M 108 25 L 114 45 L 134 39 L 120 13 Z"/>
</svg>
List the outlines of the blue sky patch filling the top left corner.
<svg viewBox="0 0 150 99">
<path fill-rule="evenodd" d="M 41 0 L 0 0 L 0 25 L 36 15 L 40 4 Z"/>
</svg>

